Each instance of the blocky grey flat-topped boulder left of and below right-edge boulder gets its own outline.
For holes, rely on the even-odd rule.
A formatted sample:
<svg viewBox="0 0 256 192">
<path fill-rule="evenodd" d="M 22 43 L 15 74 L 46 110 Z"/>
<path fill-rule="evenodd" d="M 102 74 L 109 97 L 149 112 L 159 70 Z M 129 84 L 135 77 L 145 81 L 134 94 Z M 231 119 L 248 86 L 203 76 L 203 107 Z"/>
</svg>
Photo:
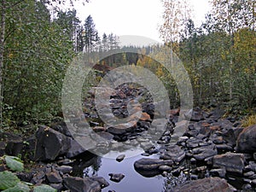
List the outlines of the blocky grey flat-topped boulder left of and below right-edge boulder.
<svg viewBox="0 0 256 192">
<path fill-rule="evenodd" d="M 244 155 L 227 152 L 226 154 L 217 154 L 213 157 L 214 167 L 224 167 L 227 172 L 236 172 L 242 174 L 244 169 Z"/>
</svg>

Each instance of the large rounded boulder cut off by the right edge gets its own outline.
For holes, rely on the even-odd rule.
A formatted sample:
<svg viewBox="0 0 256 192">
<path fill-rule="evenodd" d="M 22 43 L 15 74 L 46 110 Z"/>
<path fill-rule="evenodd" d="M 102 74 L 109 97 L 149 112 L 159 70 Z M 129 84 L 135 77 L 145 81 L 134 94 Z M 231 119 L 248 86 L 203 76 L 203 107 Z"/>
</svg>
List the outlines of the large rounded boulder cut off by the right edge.
<svg viewBox="0 0 256 192">
<path fill-rule="evenodd" d="M 248 126 L 241 131 L 236 141 L 236 150 L 241 153 L 256 152 L 256 125 Z"/>
</svg>

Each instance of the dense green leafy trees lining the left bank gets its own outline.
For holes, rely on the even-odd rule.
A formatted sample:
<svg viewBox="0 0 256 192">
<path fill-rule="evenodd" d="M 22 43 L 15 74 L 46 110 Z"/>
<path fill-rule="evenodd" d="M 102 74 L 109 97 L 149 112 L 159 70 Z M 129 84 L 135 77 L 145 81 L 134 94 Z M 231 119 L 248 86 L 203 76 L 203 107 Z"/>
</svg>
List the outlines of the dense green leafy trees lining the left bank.
<svg viewBox="0 0 256 192">
<path fill-rule="evenodd" d="M 10 6 L 6 24 L 3 102 L 8 108 L 3 119 L 9 125 L 51 119 L 61 111 L 61 84 L 73 42 L 38 1 Z"/>
</svg>

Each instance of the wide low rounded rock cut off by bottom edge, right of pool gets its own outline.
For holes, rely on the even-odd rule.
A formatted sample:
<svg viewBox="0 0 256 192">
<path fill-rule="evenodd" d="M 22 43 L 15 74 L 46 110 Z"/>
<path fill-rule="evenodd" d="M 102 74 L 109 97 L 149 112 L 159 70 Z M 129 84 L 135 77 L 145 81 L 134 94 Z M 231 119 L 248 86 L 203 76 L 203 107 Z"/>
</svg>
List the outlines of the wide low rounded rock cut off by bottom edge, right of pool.
<svg viewBox="0 0 256 192">
<path fill-rule="evenodd" d="M 174 192 L 233 192 L 236 191 L 224 178 L 207 177 L 198 180 L 192 180 L 181 184 L 173 189 Z"/>
</svg>

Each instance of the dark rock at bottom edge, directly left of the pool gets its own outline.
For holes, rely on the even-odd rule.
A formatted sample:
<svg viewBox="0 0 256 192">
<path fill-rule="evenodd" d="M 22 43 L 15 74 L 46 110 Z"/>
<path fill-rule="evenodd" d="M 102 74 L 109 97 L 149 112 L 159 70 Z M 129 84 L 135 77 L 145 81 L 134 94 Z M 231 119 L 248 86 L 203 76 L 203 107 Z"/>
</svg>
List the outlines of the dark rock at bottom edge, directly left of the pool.
<svg viewBox="0 0 256 192">
<path fill-rule="evenodd" d="M 63 181 L 70 192 L 101 192 L 102 190 L 100 183 L 88 177 L 65 177 Z"/>
</svg>

